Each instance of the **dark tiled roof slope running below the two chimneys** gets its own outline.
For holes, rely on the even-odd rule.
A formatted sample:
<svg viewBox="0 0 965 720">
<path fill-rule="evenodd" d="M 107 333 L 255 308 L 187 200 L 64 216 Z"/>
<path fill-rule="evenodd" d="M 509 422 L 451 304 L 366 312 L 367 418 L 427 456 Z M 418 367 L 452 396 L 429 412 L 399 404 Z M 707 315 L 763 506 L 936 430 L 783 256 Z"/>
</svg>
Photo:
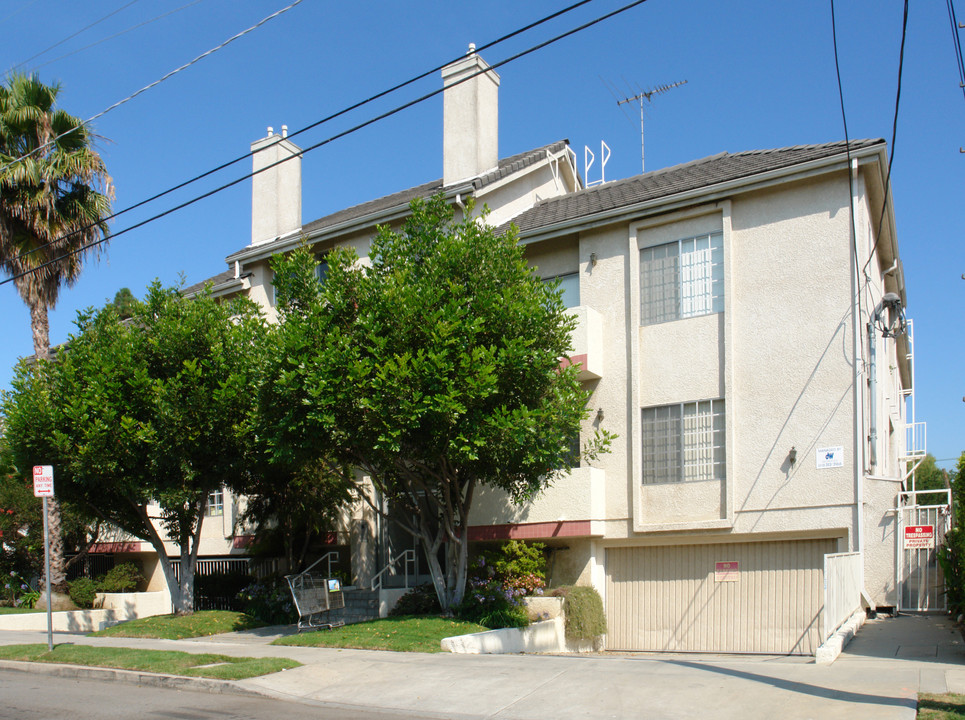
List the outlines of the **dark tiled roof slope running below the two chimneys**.
<svg viewBox="0 0 965 720">
<path fill-rule="evenodd" d="M 464 187 L 468 189 L 471 186 L 473 191 L 479 191 L 488 185 L 492 185 L 493 183 L 498 182 L 499 180 L 502 180 L 513 173 L 529 167 L 530 165 L 535 165 L 550 155 L 561 152 L 568 145 L 568 140 L 558 140 L 554 143 L 550 143 L 549 145 L 544 145 L 542 147 L 534 148 L 533 150 L 527 150 L 526 152 L 503 158 L 499 161 L 499 165 L 497 165 L 492 171 L 477 178 L 467 179 Z M 424 183 L 422 185 L 416 185 L 415 187 L 408 188 L 407 190 L 402 190 L 400 192 L 386 195 L 385 197 L 377 198 L 375 200 L 369 200 L 368 202 L 364 202 L 360 205 L 353 205 L 352 207 L 345 208 L 344 210 L 334 212 L 331 215 L 326 215 L 317 220 L 313 220 L 310 223 L 302 226 L 301 234 L 312 235 L 327 228 L 337 227 L 339 225 L 352 222 L 353 220 L 362 220 L 370 215 L 377 215 L 381 212 L 392 210 L 393 208 L 406 208 L 408 207 L 409 203 L 416 198 L 429 197 L 438 192 L 442 192 L 445 189 L 446 188 L 443 185 L 442 178 Z M 269 249 L 276 243 L 284 243 L 288 240 L 289 238 L 283 238 L 265 243 L 263 246 L 259 247 Z M 251 249 L 250 245 L 231 253 L 231 255 L 228 257 L 232 258 L 238 253 L 249 249 Z"/>
</svg>

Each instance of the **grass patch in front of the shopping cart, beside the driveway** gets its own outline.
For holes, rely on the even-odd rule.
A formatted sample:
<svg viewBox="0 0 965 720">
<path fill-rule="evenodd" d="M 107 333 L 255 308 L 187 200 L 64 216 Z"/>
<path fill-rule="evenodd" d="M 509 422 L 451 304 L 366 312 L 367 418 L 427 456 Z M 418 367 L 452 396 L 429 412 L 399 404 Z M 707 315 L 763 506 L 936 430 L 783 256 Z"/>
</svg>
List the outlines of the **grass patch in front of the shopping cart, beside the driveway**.
<svg viewBox="0 0 965 720">
<path fill-rule="evenodd" d="M 318 630 L 279 638 L 272 645 L 442 652 L 439 643 L 452 635 L 483 632 L 482 625 L 442 617 L 390 617 L 334 630 Z"/>
</svg>

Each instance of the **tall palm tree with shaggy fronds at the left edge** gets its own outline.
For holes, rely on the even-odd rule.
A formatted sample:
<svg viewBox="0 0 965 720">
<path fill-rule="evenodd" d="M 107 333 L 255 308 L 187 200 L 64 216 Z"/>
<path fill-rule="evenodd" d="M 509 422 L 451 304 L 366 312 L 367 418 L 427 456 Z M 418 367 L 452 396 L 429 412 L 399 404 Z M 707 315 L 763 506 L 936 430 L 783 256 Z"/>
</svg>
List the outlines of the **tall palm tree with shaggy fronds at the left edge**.
<svg viewBox="0 0 965 720">
<path fill-rule="evenodd" d="M 83 122 L 55 108 L 59 85 L 13 73 L 0 84 L 0 269 L 30 308 L 34 354 L 50 357 L 47 313 L 107 237 L 113 185 Z M 100 246 L 97 246 L 100 247 Z M 97 250 L 93 250 L 97 252 Z M 52 498 L 53 500 L 53 498 Z M 60 507 L 48 503 L 51 585 L 66 590 Z"/>
</svg>

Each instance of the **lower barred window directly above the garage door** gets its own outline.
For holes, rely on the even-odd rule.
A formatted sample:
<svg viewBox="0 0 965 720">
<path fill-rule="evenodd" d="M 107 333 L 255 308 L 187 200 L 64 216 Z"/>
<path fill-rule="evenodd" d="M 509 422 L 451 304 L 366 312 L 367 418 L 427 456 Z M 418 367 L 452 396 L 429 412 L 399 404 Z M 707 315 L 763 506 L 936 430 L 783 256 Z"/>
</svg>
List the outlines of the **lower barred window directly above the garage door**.
<svg viewBox="0 0 965 720">
<path fill-rule="evenodd" d="M 724 401 L 643 408 L 643 483 L 723 480 Z"/>
</svg>

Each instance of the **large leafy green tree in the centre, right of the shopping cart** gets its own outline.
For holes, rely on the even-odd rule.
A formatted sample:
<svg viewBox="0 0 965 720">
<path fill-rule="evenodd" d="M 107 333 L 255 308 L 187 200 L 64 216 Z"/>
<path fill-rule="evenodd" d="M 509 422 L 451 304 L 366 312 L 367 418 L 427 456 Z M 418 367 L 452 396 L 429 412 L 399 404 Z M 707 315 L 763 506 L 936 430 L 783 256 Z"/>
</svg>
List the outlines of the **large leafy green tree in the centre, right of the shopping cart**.
<svg viewBox="0 0 965 720">
<path fill-rule="evenodd" d="M 417 538 L 443 609 L 463 597 L 467 522 L 480 484 L 514 501 L 565 467 L 587 416 L 575 367 L 561 369 L 575 320 L 526 265 L 515 231 L 453 221 L 441 197 L 379 228 L 371 264 L 327 257 L 324 285 L 303 248 L 276 257 L 282 324 L 259 400 L 284 462 L 357 469 L 376 512 Z M 585 452 L 605 449 L 597 433 Z M 444 560 L 440 561 L 440 554 Z"/>
</svg>

